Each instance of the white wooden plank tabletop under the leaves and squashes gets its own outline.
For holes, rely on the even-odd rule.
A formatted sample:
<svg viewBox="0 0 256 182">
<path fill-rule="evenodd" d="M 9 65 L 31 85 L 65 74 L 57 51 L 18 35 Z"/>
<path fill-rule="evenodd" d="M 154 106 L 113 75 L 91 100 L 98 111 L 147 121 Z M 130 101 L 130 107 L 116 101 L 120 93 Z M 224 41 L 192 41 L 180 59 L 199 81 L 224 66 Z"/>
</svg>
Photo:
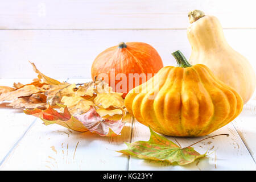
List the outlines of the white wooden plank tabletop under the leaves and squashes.
<svg viewBox="0 0 256 182">
<path fill-rule="evenodd" d="M 88 80 L 88 79 L 87 79 Z M 83 82 L 84 80 L 68 80 Z M 31 79 L 0 79 L 0 85 Z M 210 155 L 186 166 L 152 162 L 122 155 L 124 142 L 148 140 L 148 128 L 134 118 L 120 137 L 100 137 L 79 133 L 59 125 L 42 125 L 39 118 L 26 115 L 22 109 L 6 109 L 0 105 L 0 170 L 256 170 L 256 101 L 251 100 L 232 123 L 210 134 L 229 134 L 196 144 L 201 153 Z M 198 138 L 168 137 L 181 146 L 189 146 Z"/>
</svg>

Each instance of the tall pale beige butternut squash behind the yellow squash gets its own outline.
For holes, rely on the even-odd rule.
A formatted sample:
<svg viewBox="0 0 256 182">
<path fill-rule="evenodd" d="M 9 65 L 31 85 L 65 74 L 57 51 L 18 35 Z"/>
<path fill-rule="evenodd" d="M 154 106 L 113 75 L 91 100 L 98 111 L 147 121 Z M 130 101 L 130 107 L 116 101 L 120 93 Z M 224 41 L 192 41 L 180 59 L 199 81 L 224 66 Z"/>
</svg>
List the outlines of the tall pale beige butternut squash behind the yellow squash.
<svg viewBox="0 0 256 182">
<path fill-rule="evenodd" d="M 221 24 L 203 11 L 189 12 L 187 36 L 192 47 L 189 63 L 205 64 L 217 78 L 232 86 L 245 104 L 255 90 L 255 73 L 249 61 L 226 42 Z"/>
</svg>

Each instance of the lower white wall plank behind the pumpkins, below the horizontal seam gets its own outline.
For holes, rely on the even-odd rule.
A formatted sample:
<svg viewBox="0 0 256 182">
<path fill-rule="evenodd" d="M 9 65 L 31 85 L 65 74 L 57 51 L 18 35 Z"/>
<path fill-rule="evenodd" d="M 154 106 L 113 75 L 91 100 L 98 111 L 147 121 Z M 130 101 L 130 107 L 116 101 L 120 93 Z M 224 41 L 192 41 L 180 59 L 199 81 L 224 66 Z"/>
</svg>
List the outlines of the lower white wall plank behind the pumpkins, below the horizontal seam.
<svg viewBox="0 0 256 182">
<path fill-rule="evenodd" d="M 256 70 L 256 30 L 224 32 L 230 45 L 247 57 Z M 171 52 L 177 49 L 187 58 L 191 54 L 186 30 L 2 30 L 0 39 L 0 78 L 36 76 L 28 60 L 53 78 L 90 77 L 95 57 L 119 42 L 151 44 L 164 65 L 176 65 Z"/>
</svg>

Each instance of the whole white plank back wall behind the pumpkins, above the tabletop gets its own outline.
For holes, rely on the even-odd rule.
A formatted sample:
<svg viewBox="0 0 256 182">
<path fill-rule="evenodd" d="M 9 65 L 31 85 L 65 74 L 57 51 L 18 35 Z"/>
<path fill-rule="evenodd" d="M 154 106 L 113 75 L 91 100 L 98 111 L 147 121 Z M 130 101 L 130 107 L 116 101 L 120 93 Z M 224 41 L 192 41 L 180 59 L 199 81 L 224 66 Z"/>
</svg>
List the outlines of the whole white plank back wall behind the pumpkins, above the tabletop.
<svg viewBox="0 0 256 182">
<path fill-rule="evenodd" d="M 89 78 L 104 49 L 119 42 L 146 42 L 164 65 L 175 65 L 172 51 L 189 57 L 188 11 L 201 9 L 220 19 L 226 39 L 256 60 L 255 1 L 47 0 L 5 1 L 0 6 L 0 78 L 30 78 L 28 60 L 55 78 Z"/>
</svg>

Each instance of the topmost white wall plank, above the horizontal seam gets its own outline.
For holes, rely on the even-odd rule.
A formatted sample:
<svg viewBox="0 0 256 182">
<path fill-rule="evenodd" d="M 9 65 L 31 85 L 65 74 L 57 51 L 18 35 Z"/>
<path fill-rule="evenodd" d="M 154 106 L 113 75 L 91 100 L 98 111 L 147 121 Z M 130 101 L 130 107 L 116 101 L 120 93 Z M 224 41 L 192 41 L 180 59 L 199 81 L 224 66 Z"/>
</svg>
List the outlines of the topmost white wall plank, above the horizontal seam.
<svg viewBox="0 0 256 182">
<path fill-rule="evenodd" d="M 186 28 L 188 12 L 216 15 L 225 28 L 256 27 L 250 0 L 3 1 L 1 29 Z"/>
</svg>

